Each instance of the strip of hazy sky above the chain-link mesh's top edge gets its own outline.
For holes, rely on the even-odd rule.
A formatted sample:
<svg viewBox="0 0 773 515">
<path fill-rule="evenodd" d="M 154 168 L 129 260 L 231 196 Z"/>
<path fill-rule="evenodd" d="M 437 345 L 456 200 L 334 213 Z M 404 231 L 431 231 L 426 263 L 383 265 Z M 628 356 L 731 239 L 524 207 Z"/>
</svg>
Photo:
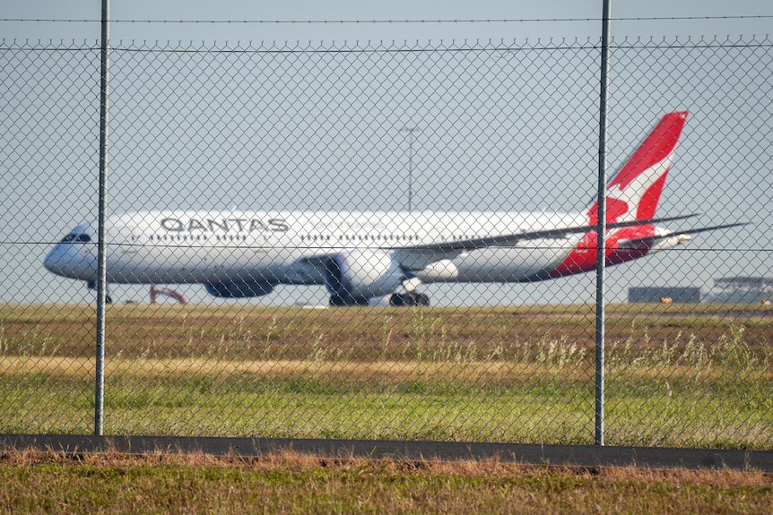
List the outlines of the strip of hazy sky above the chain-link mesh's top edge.
<svg viewBox="0 0 773 515">
<path fill-rule="evenodd" d="M 110 3 L 114 40 L 392 40 L 392 39 L 523 39 L 595 37 L 599 31 L 600 0 L 547 2 L 502 0 L 442 0 L 362 2 L 248 2 L 221 0 L 132 0 Z M 612 1 L 612 36 L 706 34 L 766 34 L 770 19 L 656 20 L 756 16 L 773 14 L 773 5 L 759 0 L 637 0 Z M 90 0 L 30 0 L 4 5 L 3 18 L 99 20 L 100 2 Z M 584 20 L 502 23 L 131 23 L 131 20 L 195 21 L 404 21 L 404 20 Z M 12 22 L 0 25 L 6 39 L 98 39 L 94 23 Z"/>
</svg>

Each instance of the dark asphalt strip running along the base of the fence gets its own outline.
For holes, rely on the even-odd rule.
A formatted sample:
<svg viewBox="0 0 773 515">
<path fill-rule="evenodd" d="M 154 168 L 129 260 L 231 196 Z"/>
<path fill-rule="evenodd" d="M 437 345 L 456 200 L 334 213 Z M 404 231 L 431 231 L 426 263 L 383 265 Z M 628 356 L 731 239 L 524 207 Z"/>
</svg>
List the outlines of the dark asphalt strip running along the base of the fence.
<svg viewBox="0 0 773 515">
<path fill-rule="evenodd" d="M 0 451 L 55 451 L 72 454 L 118 451 L 201 453 L 260 457 L 298 452 L 325 458 L 485 460 L 562 467 L 734 469 L 773 472 L 773 451 L 687 449 L 597 445 L 541 445 L 483 442 L 401 442 L 188 436 L 90 436 L 0 434 Z"/>
</svg>

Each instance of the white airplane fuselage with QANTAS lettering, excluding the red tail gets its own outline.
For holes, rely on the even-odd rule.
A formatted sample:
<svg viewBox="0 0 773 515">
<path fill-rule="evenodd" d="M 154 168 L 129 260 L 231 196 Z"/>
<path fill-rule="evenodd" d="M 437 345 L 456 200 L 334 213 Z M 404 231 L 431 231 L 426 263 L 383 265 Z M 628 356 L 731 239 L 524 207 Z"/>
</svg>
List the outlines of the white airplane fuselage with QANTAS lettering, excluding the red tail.
<svg viewBox="0 0 773 515">
<path fill-rule="evenodd" d="M 108 219 L 108 281 L 323 284 L 322 274 L 298 263 L 358 249 L 389 253 L 425 283 L 534 280 L 554 269 L 581 235 L 491 246 L 451 259 L 413 249 L 578 226 L 582 218 L 580 213 L 531 212 L 137 212 Z M 77 232 L 91 236 L 91 242 L 56 245 L 46 266 L 65 277 L 94 280 L 95 224 L 83 224 Z"/>
</svg>

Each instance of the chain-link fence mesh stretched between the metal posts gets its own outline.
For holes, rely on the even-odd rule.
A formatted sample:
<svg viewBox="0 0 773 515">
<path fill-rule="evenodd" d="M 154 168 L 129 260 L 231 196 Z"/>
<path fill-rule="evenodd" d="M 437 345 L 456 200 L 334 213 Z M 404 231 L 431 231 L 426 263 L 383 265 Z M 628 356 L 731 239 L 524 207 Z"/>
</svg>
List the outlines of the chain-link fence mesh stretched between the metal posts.
<svg viewBox="0 0 773 515">
<path fill-rule="evenodd" d="M 771 47 L 612 41 L 607 443 L 773 447 Z M 593 442 L 599 56 L 114 44 L 105 432 Z M 93 427 L 99 63 L 0 50 L 4 433 Z"/>
</svg>

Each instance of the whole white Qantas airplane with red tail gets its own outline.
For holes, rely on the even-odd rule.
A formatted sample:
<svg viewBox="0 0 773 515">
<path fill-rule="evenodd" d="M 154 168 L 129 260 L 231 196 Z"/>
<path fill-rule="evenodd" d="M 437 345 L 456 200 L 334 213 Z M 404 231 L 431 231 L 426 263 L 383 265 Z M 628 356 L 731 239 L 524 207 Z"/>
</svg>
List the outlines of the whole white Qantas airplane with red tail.
<svg viewBox="0 0 773 515">
<path fill-rule="evenodd" d="M 664 115 L 606 188 L 606 265 L 690 241 L 659 227 L 657 203 L 688 113 Z M 204 284 L 213 296 L 265 296 L 278 285 L 324 285 L 330 305 L 429 305 L 422 284 L 531 282 L 595 270 L 597 201 L 573 213 L 511 211 L 187 211 L 109 216 L 107 280 Z M 97 223 L 48 252 L 56 275 L 97 280 Z"/>
</svg>

